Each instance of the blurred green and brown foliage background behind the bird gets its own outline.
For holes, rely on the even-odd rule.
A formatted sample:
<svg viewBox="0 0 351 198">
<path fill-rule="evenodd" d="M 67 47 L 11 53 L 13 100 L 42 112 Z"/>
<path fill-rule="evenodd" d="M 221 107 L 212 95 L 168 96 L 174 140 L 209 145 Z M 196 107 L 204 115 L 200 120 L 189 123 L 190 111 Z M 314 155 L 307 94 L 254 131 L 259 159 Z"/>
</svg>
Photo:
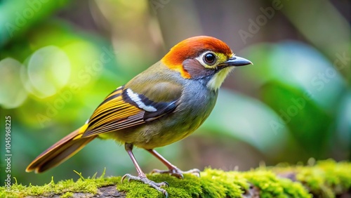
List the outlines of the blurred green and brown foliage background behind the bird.
<svg viewBox="0 0 351 198">
<path fill-rule="evenodd" d="M 349 0 L 0 1 L 1 181 L 8 115 L 18 183 L 76 180 L 73 170 L 135 174 L 113 140 L 94 140 L 46 173 L 25 168 L 84 124 L 114 88 L 196 35 L 225 41 L 254 65 L 227 78 L 192 136 L 157 149 L 166 159 L 183 170 L 241 171 L 350 160 L 350 12 Z M 135 156 L 145 172 L 164 168 L 144 150 Z"/>
</svg>

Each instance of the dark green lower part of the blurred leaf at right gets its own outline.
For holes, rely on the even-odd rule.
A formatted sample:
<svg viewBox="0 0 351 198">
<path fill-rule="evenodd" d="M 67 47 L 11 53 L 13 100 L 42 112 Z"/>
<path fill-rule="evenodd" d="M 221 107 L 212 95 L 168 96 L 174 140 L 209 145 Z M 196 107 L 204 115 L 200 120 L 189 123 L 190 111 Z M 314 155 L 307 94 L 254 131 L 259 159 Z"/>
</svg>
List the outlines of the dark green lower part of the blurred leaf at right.
<svg viewBox="0 0 351 198">
<path fill-rule="evenodd" d="M 277 128 L 288 126 L 291 135 L 305 150 L 304 155 L 322 157 L 331 137 L 329 114 L 315 105 L 310 95 L 277 81 L 266 83 L 260 93 L 263 102 L 281 118 Z"/>
</svg>

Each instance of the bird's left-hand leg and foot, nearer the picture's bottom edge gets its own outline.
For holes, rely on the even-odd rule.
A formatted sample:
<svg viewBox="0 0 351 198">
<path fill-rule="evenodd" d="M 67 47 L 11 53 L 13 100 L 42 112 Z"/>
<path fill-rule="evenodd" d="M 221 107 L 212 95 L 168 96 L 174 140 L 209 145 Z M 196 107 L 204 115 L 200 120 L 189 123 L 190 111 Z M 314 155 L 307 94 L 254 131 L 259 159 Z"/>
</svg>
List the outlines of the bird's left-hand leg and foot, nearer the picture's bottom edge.
<svg viewBox="0 0 351 198">
<path fill-rule="evenodd" d="M 161 187 L 168 185 L 166 182 L 161 182 L 161 183 L 155 183 L 153 180 L 149 180 L 146 176 L 145 173 L 140 169 L 140 166 L 138 164 L 138 161 L 136 161 L 134 154 L 132 152 L 133 150 L 133 145 L 132 144 L 124 144 L 124 148 L 126 149 L 126 152 L 128 152 L 129 157 L 131 157 L 131 160 L 133 161 L 133 164 L 135 166 L 136 171 L 138 172 L 138 176 L 132 176 L 131 174 L 126 174 L 122 177 L 121 182 L 123 183 L 123 180 L 125 178 L 128 178 L 128 181 L 130 180 L 138 180 L 141 181 L 147 185 L 150 185 L 154 189 L 158 190 L 159 192 L 162 192 L 166 197 L 168 197 L 168 193 L 166 190 L 162 189 Z"/>
</svg>

